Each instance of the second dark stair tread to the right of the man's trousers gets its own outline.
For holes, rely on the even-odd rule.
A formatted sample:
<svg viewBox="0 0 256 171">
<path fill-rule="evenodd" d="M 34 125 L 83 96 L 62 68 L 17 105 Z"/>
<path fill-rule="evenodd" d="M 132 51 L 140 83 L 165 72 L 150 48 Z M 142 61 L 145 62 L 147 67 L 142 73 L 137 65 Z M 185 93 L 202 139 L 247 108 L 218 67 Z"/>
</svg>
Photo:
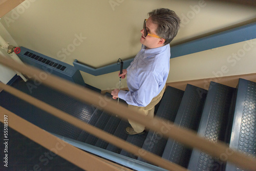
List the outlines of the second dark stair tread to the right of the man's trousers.
<svg viewBox="0 0 256 171">
<path fill-rule="evenodd" d="M 177 126 L 197 131 L 206 94 L 206 90 L 187 84 L 174 123 Z M 187 167 L 190 154 L 190 148 L 169 138 L 162 157 L 183 167 Z"/>
</svg>

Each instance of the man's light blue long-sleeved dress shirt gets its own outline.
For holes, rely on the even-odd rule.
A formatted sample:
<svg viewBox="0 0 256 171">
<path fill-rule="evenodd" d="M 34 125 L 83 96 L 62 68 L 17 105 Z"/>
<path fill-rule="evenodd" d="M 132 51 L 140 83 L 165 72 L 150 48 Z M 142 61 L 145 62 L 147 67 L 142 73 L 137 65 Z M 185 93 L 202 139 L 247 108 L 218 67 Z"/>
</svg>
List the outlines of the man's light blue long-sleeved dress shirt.
<svg viewBox="0 0 256 171">
<path fill-rule="evenodd" d="M 147 106 L 164 88 L 169 74 L 170 46 L 146 49 L 142 45 L 127 68 L 127 87 L 120 90 L 118 97 L 127 104 Z"/>
</svg>

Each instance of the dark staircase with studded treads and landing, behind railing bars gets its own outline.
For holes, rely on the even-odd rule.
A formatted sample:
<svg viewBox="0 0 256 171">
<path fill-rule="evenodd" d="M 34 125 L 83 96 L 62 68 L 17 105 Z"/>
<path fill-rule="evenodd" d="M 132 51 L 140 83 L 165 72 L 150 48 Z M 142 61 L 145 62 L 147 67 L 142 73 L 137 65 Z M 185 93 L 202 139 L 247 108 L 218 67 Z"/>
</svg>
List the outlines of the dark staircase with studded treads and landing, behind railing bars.
<svg viewBox="0 0 256 171">
<path fill-rule="evenodd" d="M 23 86 L 19 85 L 17 87 L 23 89 Z M 35 91 L 47 91 L 42 89 L 50 91 L 49 88 L 45 87 Z M 26 91 L 25 88 L 23 91 Z M 3 93 L 5 92 L 2 92 L 0 97 Z M 56 99 L 52 99 L 54 95 Z M 129 126 L 126 120 L 100 111 L 94 106 L 83 104 L 69 96 L 59 95 L 58 93 L 54 95 L 51 93 L 51 98 L 46 96 L 37 96 L 37 98 L 47 101 L 56 108 L 68 112 L 99 129 L 190 170 L 243 170 L 231 163 L 222 162 L 230 155 L 228 151 L 219 158 L 215 158 L 197 149 L 187 148 L 174 139 L 163 138 L 160 132 L 147 131 L 143 135 L 127 135 L 124 132 L 125 127 Z M 8 98 L 10 96 L 8 95 Z M 105 97 L 107 96 L 111 98 L 110 94 L 105 95 Z M 11 97 L 11 100 L 14 99 L 15 97 Z M 25 104 L 25 102 L 17 100 L 16 102 L 20 106 L 25 105 L 25 108 L 30 108 L 31 111 L 29 112 L 33 113 L 34 116 L 29 115 L 28 111 L 20 112 L 20 107 L 14 107 L 6 102 L 1 101 L 0 105 L 42 129 L 98 156 L 134 170 L 164 170 L 148 163 L 141 157 L 130 154 L 77 129 L 73 125 L 54 118 L 44 113 L 44 111 L 39 110 L 35 113 L 33 112 L 35 109 L 32 106 L 29 107 L 29 104 Z M 61 105 L 59 105 L 60 103 Z M 234 150 L 256 157 L 255 82 L 239 79 L 237 88 L 210 82 L 208 91 L 190 84 L 187 84 L 185 91 L 166 87 L 156 116 L 172 121 L 177 126 L 194 130 L 198 132 L 199 136 L 212 143 L 224 141 Z"/>
</svg>

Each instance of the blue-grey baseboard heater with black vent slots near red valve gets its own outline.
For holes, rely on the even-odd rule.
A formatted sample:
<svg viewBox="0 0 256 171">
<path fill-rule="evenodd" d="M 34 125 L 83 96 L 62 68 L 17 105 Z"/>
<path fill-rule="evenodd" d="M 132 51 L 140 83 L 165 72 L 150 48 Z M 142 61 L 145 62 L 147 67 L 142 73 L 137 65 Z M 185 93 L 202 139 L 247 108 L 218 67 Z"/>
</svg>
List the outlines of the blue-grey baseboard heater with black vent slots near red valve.
<svg viewBox="0 0 256 171">
<path fill-rule="evenodd" d="M 86 86 L 80 71 L 68 63 L 56 60 L 24 47 L 20 47 L 20 53 L 17 55 L 24 63 L 27 63 L 28 65 L 48 71 L 56 76 L 80 84 L 81 86 Z"/>
</svg>

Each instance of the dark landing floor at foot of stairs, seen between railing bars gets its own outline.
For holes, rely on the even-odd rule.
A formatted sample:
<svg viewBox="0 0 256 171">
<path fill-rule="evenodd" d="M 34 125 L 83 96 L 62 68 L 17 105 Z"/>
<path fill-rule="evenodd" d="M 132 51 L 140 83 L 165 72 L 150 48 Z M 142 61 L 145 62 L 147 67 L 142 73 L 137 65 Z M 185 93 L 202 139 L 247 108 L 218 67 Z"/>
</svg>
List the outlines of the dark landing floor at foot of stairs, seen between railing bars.
<svg viewBox="0 0 256 171">
<path fill-rule="evenodd" d="M 21 78 L 18 78 L 14 81 L 12 87 L 49 103 L 55 108 L 67 112 L 84 122 L 88 122 L 95 110 L 93 106 L 84 104 L 70 96 L 50 89 L 43 84 L 36 84 L 37 88 L 32 89 L 32 91 L 28 88 L 28 85 L 35 86 L 34 81 L 29 80 L 24 82 Z M 77 139 L 82 132 L 82 130 L 78 129 L 76 126 L 56 118 L 5 91 L 1 92 L 1 99 L 3 100 L 0 100 L 0 105 L 5 109 L 28 120 L 43 130 L 72 139 Z M 71 105 L 70 102 L 75 103 L 75 105 Z"/>
</svg>

